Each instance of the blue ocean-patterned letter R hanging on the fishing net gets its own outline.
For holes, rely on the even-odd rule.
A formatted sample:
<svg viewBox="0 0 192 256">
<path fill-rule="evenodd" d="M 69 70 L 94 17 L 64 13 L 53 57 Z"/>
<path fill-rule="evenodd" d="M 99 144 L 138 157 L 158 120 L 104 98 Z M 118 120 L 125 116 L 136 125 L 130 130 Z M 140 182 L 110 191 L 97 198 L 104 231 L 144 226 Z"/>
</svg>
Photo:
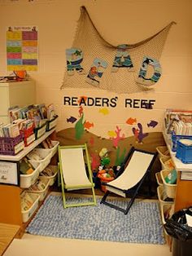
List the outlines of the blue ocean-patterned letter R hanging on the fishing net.
<svg viewBox="0 0 192 256">
<path fill-rule="evenodd" d="M 81 67 L 81 62 L 83 60 L 83 52 L 80 49 L 66 49 L 66 59 L 69 76 L 74 75 L 75 70 L 79 74 L 85 74 L 84 68 Z"/>
</svg>

